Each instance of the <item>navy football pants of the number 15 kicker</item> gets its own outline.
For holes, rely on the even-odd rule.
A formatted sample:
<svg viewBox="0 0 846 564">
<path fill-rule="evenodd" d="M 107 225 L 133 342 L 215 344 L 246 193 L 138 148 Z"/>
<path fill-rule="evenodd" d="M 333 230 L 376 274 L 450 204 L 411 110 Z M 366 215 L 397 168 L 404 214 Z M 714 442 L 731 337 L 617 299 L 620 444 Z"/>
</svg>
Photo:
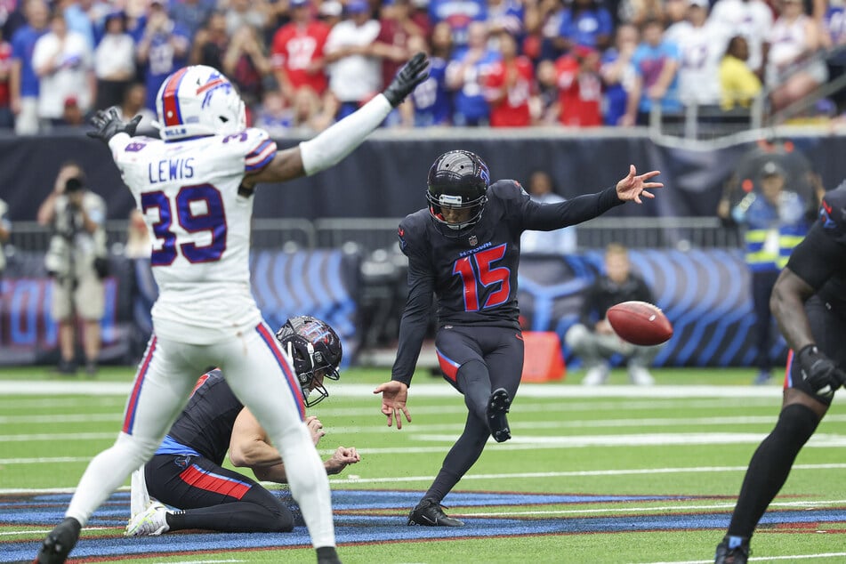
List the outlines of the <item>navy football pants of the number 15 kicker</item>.
<svg viewBox="0 0 846 564">
<path fill-rule="evenodd" d="M 467 421 L 464 431 L 447 453 L 435 481 L 424 497 L 437 503 L 455 487 L 485 448 L 487 399 L 504 388 L 512 401 L 523 372 L 523 336 L 504 327 L 441 327 L 435 337 L 441 372 L 464 395 Z"/>
</svg>

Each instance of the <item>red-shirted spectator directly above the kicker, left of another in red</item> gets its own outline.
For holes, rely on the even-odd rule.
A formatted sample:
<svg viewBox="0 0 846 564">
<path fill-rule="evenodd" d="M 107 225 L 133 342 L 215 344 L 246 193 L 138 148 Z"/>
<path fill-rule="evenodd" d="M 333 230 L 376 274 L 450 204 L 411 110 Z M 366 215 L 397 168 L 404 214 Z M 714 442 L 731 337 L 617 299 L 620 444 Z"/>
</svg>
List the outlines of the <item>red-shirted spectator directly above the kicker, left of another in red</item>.
<svg viewBox="0 0 846 564">
<path fill-rule="evenodd" d="M 517 54 L 517 42 L 508 33 L 499 34 L 499 49 L 503 58 L 491 65 L 486 81 L 490 125 L 528 127 L 529 100 L 536 91 L 532 61 Z"/>
</svg>

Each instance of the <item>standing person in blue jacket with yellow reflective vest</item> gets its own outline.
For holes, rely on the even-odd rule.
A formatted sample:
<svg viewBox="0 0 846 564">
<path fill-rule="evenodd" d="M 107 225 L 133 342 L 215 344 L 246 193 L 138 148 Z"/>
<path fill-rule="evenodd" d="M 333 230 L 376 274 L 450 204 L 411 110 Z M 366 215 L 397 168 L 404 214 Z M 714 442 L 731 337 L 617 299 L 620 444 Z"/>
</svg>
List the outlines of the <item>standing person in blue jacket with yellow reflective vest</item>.
<svg viewBox="0 0 846 564">
<path fill-rule="evenodd" d="M 778 155 L 767 160 L 753 182 L 745 182 L 749 192 L 729 210 L 723 197 L 718 215 L 745 228 L 745 262 L 749 267 L 755 313 L 754 341 L 758 369 L 754 383 L 768 383 L 771 377 L 772 315 L 769 297 L 778 273 L 808 232 L 807 206 L 802 197 L 787 189 L 788 174 Z M 757 185 L 758 190 L 753 187 Z"/>
</svg>

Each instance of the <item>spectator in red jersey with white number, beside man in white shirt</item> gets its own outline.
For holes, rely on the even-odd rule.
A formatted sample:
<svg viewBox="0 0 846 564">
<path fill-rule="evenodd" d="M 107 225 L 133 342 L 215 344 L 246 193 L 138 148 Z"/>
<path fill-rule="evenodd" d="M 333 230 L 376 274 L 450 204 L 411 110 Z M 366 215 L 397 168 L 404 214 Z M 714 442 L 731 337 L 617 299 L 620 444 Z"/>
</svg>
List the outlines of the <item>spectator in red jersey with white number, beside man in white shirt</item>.
<svg viewBox="0 0 846 564">
<path fill-rule="evenodd" d="M 310 86 L 318 95 L 326 92 L 326 60 L 323 48 L 329 26 L 314 17 L 310 0 L 291 0 L 291 22 L 273 36 L 270 50 L 276 79 L 288 103 L 302 86 Z"/>
</svg>

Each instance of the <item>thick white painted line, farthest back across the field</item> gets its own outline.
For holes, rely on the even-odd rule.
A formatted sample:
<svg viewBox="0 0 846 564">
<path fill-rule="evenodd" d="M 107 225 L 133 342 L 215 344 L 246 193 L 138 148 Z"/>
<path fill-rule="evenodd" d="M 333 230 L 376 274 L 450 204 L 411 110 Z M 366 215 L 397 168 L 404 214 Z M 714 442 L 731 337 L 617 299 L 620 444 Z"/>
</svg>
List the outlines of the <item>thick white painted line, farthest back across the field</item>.
<svg viewBox="0 0 846 564">
<path fill-rule="evenodd" d="M 42 396 L 126 395 L 130 382 L 61 382 L 61 381 L 0 381 L 0 395 Z M 375 384 L 338 383 L 332 386 L 339 397 L 375 398 Z M 455 390 L 445 383 L 415 384 L 413 397 L 455 397 Z M 778 386 L 576 386 L 573 384 L 525 384 L 518 394 L 523 398 L 781 398 Z"/>
</svg>

